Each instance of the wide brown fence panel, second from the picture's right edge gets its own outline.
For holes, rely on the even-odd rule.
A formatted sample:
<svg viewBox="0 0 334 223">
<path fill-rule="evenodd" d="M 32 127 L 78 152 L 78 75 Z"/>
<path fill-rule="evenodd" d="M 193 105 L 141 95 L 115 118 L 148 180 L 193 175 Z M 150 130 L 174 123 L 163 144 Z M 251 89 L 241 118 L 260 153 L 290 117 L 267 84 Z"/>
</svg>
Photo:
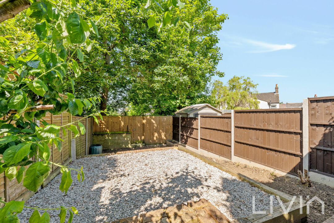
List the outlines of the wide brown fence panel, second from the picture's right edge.
<svg viewBox="0 0 334 223">
<path fill-rule="evenodd" d="M 234 155 L 286 173 L 303 168 L 302 109 L 234 111 Z"/>
</svg>

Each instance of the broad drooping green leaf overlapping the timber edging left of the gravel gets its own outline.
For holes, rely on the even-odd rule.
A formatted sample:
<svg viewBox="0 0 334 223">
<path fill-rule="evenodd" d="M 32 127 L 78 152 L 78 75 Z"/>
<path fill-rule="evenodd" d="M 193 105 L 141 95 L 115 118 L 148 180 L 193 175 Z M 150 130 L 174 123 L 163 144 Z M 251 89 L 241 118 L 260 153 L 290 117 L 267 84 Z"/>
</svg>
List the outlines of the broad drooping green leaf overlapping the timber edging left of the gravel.
<svg viewBox="0 0 334 223">
<path fill-rule="evenodd" d="M 42 161 L 34 162 L 25 172 L 23 186 L 36 192 L 49 173 L 49 166 Z"/>
</svg>

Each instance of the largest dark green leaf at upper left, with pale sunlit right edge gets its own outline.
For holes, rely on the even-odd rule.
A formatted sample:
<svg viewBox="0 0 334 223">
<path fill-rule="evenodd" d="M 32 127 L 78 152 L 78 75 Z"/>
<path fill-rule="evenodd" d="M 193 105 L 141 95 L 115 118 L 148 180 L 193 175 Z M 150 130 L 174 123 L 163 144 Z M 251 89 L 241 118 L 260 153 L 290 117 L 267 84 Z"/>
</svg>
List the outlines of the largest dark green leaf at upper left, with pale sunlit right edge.
<svg viewBox="0 0 334 223">
<path fill-rule="evenodd" d="M 76 12 L 68 15 L 66 27 L 69 31 L 69 38 L 71 43 L 83 43 L 87 39 L 90 31 L 89 25 L 79 17 Z"/>
</svg>

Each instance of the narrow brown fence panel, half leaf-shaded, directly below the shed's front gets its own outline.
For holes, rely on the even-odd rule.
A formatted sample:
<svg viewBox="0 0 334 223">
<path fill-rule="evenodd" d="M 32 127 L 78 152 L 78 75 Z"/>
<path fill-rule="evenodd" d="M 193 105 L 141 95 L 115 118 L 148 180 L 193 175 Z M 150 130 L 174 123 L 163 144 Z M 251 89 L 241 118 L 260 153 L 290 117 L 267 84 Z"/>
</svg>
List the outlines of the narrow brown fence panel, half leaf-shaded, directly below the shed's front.
<svg viewBox="0 0 334 223">
<path fill-rule="evenodd" d="M 198 149 L 198 118 L 181 117 L 180 142 Z"/>
</svg>

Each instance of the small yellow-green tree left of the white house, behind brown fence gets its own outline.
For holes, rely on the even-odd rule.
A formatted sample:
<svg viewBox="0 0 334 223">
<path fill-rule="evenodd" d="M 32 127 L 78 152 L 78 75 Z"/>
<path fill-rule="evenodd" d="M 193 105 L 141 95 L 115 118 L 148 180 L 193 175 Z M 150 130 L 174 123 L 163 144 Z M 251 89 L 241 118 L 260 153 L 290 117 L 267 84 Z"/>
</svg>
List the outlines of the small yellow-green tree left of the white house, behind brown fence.
<svg viewBox="0 0 334 223">
<path fill-rule="evenodd" d="M 249 77 L 244 76 L 233 76 L 226 85 L 216 80 L 212 83 L 211 97 L 220 109 L 257 109 L 257 86 Z"/>
</svg>

